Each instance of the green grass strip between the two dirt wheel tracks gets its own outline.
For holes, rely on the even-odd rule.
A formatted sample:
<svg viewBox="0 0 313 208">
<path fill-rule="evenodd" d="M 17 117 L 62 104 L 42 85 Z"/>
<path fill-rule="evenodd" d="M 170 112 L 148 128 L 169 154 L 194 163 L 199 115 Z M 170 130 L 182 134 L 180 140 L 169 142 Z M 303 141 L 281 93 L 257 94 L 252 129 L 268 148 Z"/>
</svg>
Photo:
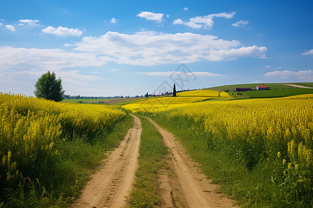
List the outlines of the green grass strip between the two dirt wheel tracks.
<svg viewBox="0 0 313 208">
<path fill-rule="evenodd" d="M 163 138 L 157 128 L 144 117 L 141 117 L 141 122 L 143 132 L 139 148 L 139 167 L 129 205 L 130 207 L 154 207 L 161 205 L 158 171 L 166 164 L 164 157 L 168 149 L 164 146 Z"/>
</svg>

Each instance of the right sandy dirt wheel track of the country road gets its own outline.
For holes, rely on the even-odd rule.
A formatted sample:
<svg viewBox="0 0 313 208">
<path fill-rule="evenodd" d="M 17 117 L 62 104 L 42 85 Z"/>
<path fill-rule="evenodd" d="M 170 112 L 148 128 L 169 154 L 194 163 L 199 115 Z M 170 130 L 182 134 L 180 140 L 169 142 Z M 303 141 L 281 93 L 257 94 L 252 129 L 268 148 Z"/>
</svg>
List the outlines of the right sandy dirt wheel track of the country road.
<svg viewBox="0 0 313 208">
<path fill-rule="evenodd" d="M 196 164 L 184 153 L 184 149 L 173 135 L 149 119 L 161 132 L 164 143 L 170 148 L 169 168 L 160 175 L 165 206 L 162 207 L 234 207 L 227 196 L 216 193 L 218 185 L 211 184 L 203 173 L 198 172 Z M 172 175 L 172 176 L 170 176 Z M 176 177 L 176 178 L 175 178 Z"/>
</svg>

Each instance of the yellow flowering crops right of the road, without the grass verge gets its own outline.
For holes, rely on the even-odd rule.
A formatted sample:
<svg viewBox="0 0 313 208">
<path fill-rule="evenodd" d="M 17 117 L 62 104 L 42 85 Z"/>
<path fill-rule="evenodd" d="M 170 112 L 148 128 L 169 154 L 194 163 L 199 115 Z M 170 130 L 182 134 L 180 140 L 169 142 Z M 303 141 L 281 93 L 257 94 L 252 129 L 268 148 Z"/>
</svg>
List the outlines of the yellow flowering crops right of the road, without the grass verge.
<svg viewBox="0 0 313 208">
<path fill-rule="evenodd" d="M 262 166 L 269 171 L 262 173 L 265 181 L 256 187 L 271 182 L 268 189 L 276 191 L 271 194 L 283 205 L 308 206 L 313 193 L 312 99 L 313 94 L 212 101 L 163 105 L 163 112 L 150 106 L 140 112 L 182 131 L 187 128 L 208 150 L 234 155 L 250 171 Z"/>
</svg>

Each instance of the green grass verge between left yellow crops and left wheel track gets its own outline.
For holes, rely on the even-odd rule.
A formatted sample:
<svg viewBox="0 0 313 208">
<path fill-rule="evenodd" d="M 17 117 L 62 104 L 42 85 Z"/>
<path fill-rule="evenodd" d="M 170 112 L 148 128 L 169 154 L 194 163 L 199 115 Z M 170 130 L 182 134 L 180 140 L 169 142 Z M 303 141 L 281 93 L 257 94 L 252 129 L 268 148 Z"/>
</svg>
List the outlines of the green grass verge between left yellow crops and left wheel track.
<svg viewBox="0 0 313 208">
<path fill-rule="evenodd" d="M 67 207 L 79 196 L 79 190 L 104 159 L 104 153 L 120 144 L 131 127 L 133 117 L 113 126 L 110 132 L 94 138 L 73 137 L 57 141 L 58 157 L 42 164 L 36 177 L 22 179 L 19 185 L 8 190 L 10 198 L 3 207 Z M 26 177 L 26 176 L 24 176 Z M 1 201 L 0 201 L 1 207 Z"/>
</svg>

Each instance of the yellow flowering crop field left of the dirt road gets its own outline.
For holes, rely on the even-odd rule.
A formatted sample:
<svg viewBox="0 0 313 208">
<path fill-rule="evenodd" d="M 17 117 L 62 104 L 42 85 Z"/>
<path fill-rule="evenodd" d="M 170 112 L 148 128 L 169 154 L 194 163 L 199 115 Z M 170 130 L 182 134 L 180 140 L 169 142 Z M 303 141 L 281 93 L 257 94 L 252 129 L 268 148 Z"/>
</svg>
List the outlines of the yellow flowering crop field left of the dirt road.
<svg viewBox="0 0 313 208">
<path fill-rule="evenodd" d="M 42 171 L 52 174 L 60 155 L 56 144 L 77 137 L 92 142 L 125 116 L 119 107 L 110 105 L 56 103 L 0 94 L 1 190 L 15 187 L 24 177 L 40 178 Z"/>
</svg>

